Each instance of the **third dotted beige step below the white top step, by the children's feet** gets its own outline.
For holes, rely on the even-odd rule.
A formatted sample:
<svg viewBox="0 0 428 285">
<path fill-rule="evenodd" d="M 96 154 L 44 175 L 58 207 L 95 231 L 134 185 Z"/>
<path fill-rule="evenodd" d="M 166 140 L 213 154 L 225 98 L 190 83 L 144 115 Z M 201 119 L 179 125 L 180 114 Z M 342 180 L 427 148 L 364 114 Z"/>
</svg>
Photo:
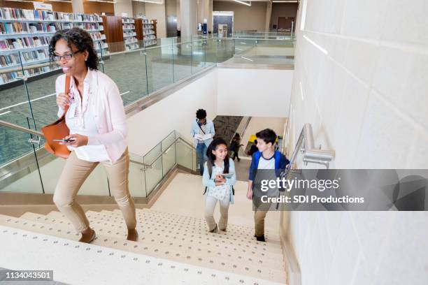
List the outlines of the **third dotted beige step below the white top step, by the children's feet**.
<svg viewBox="0 0 428 285">
<path fill-rule="evenodd" d="M 48 216 L 54 215 L 54 213 L 49 213 Z M 116 217 L 112 217 L 110 214 L 106 213 L 100 213 L 100 212 L 92 212 L 87 211 L 86 215 L 88 219 L 91 217 L 94 220 L 97 221 L 106 221 L 109 223 L 115 223 L 120 224 L 124 226 L 124 220 L 122 218 L 122 215 L 117 215 Z M 61 213 L 57 212 L 55 214 L 55 217 L 64 217 Z M 231 244 L 234 244 L 236 246 L 239 246 L 240 243 L 248 243 L 249 246 L 258 246 L 262 247 L 264 251 L 270 251 L 270 252 L 278 252 L 278 249 L 280 249 L 280 242 L 276 240 L 268 240 L 268 242 L 257 242 L 255 240 L 254 236 L 248 235 L 248 234 L 241 234 L 233 233 L 231 231 L 228 231 L 226 233 L 219 231 L 218 233 L 209 233 L 206 228 L 197 228 L 194 227 L 193 224 L 175 224 L 172 221 L 169 220 L 160 220 L 157 219 L 155 221 L 155 218 L 152 217 L 137 217 L 137 224 L 140 226 L 148 226 L 150 228 L 162 228 L 165 231 L 178 231 L 179 235 L 187 235 L 188 233 L 192 233 L 197 238 L 206 239 L 207 237 L 215 237 L 219 240 L 227 240 L 227 242 L 230 242 Z"/>
</svg>

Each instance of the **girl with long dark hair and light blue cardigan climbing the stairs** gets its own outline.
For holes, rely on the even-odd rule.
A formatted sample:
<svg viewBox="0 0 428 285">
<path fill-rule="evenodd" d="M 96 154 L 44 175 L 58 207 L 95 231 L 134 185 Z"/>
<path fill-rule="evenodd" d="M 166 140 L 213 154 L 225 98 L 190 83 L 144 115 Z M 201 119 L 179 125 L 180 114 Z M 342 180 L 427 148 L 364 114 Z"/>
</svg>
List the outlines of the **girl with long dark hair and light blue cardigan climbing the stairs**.
<svg viewBox="0 0 428 285">
<path fill-rule="evenodd" d="M 227 143 L 222 138 L 216 138 L 206 151 L 208 161 L 204 166 L 203 183 L 205 188 L 205 219 L 208 231 L 217 233 L 226 231 L 229 204 L 234 203 L 234 184 L 236 182 L 234 161 L 227 154 Z M 224 177 L 224 173 L 231 174 Z M 214 209 L 220 203 L 220 221 L 215 224 Z"/>
</svg>

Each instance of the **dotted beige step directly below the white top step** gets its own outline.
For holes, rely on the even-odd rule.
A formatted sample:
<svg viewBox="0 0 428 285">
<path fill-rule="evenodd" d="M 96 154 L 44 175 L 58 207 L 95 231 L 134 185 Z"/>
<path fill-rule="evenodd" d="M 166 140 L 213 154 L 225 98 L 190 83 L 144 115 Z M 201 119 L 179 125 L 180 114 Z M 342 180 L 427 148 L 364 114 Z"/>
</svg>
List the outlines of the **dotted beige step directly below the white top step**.
<svg viewBox="0 0 428 285">
<path fill-rule="evenodd" d="M 21 228 L 24 230 L 34 231 L 47 235 L 54 235 L 59 238 L 68 238 L 71 240 L 78 240 L 79 234 L 74 234 L 70 225 L 65 223 L 52 225 L 36 221 L 29 221 L 22 218 L 14 218 L 0 215 L 0 224 L 14 228 Z M 92 242 L 103 247 L 111 247 L 124 251 L 131 251 L 138 254 L 145 254 L 156 258 L 165 258 L 173 261 L 197 265 L 204 268 L 213 268 L 215 270 L 228 271 L 236 274 L 244 274 L 260 279 L 266 279 L 273 282 L 285 282 L 286 273 L 283 270 L 272 270 L 270 268 L 260 268 L 259 266 L 243 265 L 242 263 L 231 263 L 227 260 L 217 260 L 217 258 L 207 258 L 207 254 L 188 255 L 187 250 L 171 248 L 165 251 L 164 246 L 162 249 L 157 247 L 150 247 L 145 242 L 130 242 L 124 238 L 113 238 L 106 235 L 98 235 Z"/>
</svg>

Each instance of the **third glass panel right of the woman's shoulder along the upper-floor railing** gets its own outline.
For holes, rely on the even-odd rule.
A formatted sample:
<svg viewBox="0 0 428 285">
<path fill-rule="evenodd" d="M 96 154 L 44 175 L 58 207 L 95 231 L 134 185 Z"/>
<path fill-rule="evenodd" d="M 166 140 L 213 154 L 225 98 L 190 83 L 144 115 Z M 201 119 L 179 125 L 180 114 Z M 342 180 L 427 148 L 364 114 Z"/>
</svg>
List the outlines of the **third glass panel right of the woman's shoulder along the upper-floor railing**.
<svg viewBox="0 0 428 285">
<path fill-rule="evenodd" d="M 174 82 L 177 82 L 192 75 L 192 48 L 182 38 L 176 38 L 171 47 Z"/>
</svg>

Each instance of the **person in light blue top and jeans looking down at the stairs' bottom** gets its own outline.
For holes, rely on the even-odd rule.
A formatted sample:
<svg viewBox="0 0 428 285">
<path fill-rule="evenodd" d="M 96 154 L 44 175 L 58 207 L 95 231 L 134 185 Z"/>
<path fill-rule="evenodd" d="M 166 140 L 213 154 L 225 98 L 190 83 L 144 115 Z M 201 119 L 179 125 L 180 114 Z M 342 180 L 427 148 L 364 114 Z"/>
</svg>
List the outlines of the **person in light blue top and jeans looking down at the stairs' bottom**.
<svg viewBox="0 0 428 285">
<path fill-rule="evenodd" d="M 206 149 L 213 141 L 215 135 L 214 124 L 211 119 L 206 118 L 206 110 L 197 110 L 197 117 L 192 122 L 192 129 L 190 135 L 194 138 L 194 144 L 197 148 L 197 161 L 199 166 L 199 173 L 204 174 L 204 163 L 207 159 Z"/>
</svg>

